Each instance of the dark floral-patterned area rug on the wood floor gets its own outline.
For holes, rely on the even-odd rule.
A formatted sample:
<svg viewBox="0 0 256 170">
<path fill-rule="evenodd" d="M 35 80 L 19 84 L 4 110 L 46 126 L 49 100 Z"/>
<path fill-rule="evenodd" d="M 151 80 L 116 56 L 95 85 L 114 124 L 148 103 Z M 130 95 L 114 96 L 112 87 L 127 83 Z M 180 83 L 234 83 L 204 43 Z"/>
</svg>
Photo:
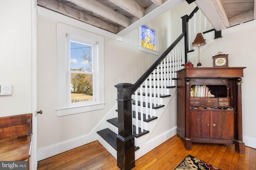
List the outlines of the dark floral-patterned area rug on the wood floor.
<svg viewBox="0 0 256 170">
<path fill-rule="evenodd" d="M 190 154 L 174 170 L 220 170 Z"/>
</svg>

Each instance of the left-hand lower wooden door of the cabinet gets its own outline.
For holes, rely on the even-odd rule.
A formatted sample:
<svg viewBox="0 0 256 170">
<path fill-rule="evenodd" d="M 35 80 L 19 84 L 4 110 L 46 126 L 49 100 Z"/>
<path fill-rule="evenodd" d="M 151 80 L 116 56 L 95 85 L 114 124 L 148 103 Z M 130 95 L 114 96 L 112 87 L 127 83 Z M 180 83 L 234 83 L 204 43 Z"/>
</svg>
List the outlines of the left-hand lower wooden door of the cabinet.
<svg viewBox="0 0 256 170">
<path fill-rule="evenodd" d="M 190 111 L 190 138 L 210 137 L 210 111 Z"/>
</svg>

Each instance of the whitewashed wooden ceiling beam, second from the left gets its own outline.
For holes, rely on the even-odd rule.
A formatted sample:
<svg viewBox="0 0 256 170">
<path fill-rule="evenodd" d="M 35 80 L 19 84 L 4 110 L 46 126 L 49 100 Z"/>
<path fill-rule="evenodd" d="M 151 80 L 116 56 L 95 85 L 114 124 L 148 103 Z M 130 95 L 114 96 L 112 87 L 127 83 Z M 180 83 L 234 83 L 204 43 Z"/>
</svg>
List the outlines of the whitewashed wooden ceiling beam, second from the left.
<svg viewBox="0 0 256 170">
<path fill-rule="evenodd" d="M 95 14 L 98 14 L 108 20 L 114 21 L 124 27 L 128 27 L 131 23 L 131 20 L 126 16 L 112 10 L 108 6 L 98 2 L 97 0 L 68 0 L 82 8 L 85 8 Z"/>
</svg>

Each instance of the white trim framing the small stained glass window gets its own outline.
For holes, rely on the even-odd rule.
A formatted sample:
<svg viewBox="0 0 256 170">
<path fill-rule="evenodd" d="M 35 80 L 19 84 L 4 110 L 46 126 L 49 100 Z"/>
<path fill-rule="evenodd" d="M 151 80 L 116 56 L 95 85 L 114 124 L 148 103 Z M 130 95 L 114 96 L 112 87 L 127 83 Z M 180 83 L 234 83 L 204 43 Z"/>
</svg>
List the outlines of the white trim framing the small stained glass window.
<svg viewBox="0 0 256 170">
<path fill-rule="evenodd" d="M 146 47 L 141 46 L 141 26 L 138 28 L 138 50 L 144 51 L 146 53 L 154 54 L 154 55 L 159 55 L 158 51 L 158 28 L 154 27 L 153 25 L 150 25 L 149 23 L 144 24 L 144 26 L 152 29 L 155 31 L 155 39 L 156 39 L 156 50 L 148 49 Z"/>
</svg>

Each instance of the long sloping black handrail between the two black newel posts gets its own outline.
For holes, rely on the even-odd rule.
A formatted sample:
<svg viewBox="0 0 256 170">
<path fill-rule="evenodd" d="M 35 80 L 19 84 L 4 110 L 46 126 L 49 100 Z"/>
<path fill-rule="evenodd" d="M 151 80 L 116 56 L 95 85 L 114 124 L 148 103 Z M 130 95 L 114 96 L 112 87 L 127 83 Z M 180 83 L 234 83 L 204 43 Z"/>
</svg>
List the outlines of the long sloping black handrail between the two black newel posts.
<svg viewBox="0 0 256 170">
<path fill-rule="evenodd" d="M 182 32 L 180 36 L 162 53 L 160 57 L 142 74 L 142 76 L 134 83 L 132 88 L 132 94 L 140 87 L 140 85 L 148 78 L 148 76 L 154 71 L 154 69 L 161 63 L 161 61 L 174 49 L 178 42 L 185 36 L 185 32 Z"/>
</svg>

